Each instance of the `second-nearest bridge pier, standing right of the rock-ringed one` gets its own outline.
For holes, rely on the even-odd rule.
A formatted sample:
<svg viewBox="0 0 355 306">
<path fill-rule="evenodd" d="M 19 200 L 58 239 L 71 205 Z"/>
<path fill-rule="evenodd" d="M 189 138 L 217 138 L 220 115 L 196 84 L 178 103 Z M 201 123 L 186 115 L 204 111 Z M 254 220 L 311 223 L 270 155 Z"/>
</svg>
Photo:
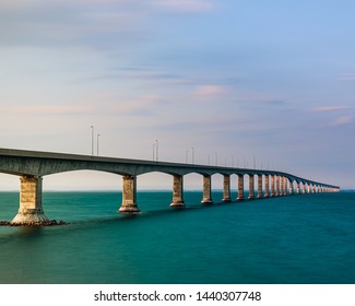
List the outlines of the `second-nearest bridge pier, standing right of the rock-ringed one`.
<svg viewBox="0 0 355 306">
<path fill-rule="evenodd" d="M 137 205 L 137 177 L 126 175 L 122 178 L 122 204 L 118 210 L 121 213 L 138 213 Z"/>
</svg>

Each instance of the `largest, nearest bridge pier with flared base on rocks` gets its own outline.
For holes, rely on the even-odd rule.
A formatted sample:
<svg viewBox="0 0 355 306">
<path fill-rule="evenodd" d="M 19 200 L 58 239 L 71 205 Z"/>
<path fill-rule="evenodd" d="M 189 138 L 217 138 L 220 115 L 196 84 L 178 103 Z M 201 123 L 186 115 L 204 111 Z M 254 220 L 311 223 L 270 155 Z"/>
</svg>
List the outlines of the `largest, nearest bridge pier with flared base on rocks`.
<svg viewBox="0 0 355 306">
<path fill-rule="evenodd" d="M 33 224 L 49 221 L 42 208 L 42 177 L 20 177 L 20 209 L 12 224 Z"/>
</svg>

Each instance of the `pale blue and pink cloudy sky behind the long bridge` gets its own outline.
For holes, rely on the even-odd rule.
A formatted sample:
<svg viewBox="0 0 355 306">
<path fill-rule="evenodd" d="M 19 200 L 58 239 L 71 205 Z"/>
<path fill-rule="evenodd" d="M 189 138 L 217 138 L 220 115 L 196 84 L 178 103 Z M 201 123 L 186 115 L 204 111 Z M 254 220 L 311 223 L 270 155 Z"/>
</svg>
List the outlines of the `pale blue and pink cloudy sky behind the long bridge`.
<svg viewBox="0 0 355 306">
<path fill-rule="evenodd" d="M 355 188 L 354 11 L 350 0 L 1 0 L 0 146 L 90 155 L 94 132 L 100 156 L 193 155 Z M 171 185 L 164 174 L 138 181 Z"/>
</svg>

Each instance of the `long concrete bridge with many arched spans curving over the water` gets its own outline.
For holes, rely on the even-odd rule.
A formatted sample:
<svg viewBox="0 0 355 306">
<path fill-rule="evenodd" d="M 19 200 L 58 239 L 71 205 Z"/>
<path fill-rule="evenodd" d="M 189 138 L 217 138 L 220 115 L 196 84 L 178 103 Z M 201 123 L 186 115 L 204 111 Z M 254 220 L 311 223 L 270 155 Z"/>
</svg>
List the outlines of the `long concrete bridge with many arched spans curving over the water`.
<svg viewBox="0 0 355 306">
<path fill-rule="evenodd" d="M 232 201 L 232 175 L 237 175 L 238 177 L 237 200 L 245 198 L 245 176 L 249 178 L 248 199 L 281 197 L 294 193 L 334 192 L 340 190 L 338 186 L 276 170 L 0 149 L 0 173 L 20 176 L 20 209 L 11 223 L 29 224 L 48 221 L 42 205 L 43 178 L 51 174 L 83 169 L 107 172 L 122 176 L 122 203 L 119 208 L 121 213 L 138 213 L 140 211 L 137 203 L 137 177 L 152 172 L 173 176 L 173 200 L 170 207 L 174 208 L 185 207 L 184 176 L 191 173 L 200 174 L 203 177 L 203 198 L 201 201 L 203 204 L 212 203 L 211 176 L 214 174 L 221 174 L 224 177 L 223 201 L 225 202 Z M 257 195 L 255 178 L 257 178 Z M 294 190 L 295 187 L 296 190 Z"/>
</svg>

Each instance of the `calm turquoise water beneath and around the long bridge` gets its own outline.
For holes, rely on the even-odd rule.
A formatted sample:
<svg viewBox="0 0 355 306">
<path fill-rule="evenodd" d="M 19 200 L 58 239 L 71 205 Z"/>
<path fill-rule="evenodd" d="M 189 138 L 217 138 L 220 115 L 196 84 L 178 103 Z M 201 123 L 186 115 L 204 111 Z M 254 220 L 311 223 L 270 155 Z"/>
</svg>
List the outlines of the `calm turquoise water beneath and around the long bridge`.
<svg viewBox="0 0 355 306">
<path fill-rule="evenodd" d="M 119 192 L 45 192 L 70 224 L 1 226 L 0 283 L 355 283 L 355 192 L 221 198 L 187 191 L 174 210 L 171 192 L 139 192 L 142 213 L 122 216 Z M 17 209 L 0 193 L 0 220 Z"/>
</svg>

